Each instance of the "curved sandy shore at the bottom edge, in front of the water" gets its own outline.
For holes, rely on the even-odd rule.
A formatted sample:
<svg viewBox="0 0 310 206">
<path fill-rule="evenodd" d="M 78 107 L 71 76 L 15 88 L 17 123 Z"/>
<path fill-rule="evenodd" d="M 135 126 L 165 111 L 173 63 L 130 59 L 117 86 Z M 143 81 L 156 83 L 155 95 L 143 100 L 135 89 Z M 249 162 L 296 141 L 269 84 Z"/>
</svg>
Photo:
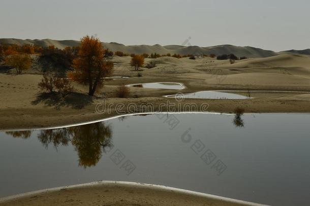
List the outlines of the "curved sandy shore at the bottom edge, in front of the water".
<svg viewBox="0 0 310 206">
<path fill-rule="evenodd" d="M 261 205 L 171 187 L 95 182 L 0 199 L 0 205 Z"/>
</svg>

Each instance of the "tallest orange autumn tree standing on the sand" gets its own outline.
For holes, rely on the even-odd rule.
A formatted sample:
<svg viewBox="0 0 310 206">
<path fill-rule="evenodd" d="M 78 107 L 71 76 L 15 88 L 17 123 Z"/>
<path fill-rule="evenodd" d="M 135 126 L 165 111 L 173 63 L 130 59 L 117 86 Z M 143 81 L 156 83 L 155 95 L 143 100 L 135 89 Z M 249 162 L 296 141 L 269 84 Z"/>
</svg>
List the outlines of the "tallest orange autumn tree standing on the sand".
<svg viewBox="0 0 310 206">
<path fill-rule="evenodd" d="M 85 36 L 81 39 L 78 57 L 73 60 L 72 80 L 88 84 L 88 95 L 94 96 L 97 87 L 103 86 L 104 77 L 111 74 L 113 62 L 105 55 L 106 50 L 98 38 Z"/>
</svg>

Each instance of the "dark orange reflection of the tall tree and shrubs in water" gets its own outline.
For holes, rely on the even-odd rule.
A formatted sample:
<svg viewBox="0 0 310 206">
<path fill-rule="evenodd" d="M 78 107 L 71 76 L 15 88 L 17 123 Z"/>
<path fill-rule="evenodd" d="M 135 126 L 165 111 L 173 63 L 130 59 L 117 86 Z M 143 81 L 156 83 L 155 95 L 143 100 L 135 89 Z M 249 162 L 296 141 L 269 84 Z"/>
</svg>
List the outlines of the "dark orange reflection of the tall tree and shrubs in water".
<svg viewBox="0 0 310 206">
<path fill-rule="evenodd" d="M 45 148 L 50 143 L 57 148 L 58 145 L 68 145 L 71 141 L 75 146 L 75 150 L 79 156 L 79 166 L 84 168 L 95 166 L 106 147 L 111 147 L 112 129 L 110 126 L 105 126 L 103 122 L 61 128 L 42 130 L 38 135 L 39 140 Z"/>
</svg>

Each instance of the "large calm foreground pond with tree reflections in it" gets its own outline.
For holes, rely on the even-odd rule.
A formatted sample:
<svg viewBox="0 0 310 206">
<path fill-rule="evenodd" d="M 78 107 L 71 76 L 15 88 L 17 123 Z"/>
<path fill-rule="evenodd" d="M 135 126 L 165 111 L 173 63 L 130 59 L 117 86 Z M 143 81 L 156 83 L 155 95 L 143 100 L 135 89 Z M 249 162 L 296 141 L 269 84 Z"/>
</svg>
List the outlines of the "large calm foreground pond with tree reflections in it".
<svg viewBox="0 0 310 206">
<path fill-rule="evenodd" d="M 308 205 L 309 114 L 150 114 L 0 132 L 0 196 L 98 180 Z"/>
</svg>

